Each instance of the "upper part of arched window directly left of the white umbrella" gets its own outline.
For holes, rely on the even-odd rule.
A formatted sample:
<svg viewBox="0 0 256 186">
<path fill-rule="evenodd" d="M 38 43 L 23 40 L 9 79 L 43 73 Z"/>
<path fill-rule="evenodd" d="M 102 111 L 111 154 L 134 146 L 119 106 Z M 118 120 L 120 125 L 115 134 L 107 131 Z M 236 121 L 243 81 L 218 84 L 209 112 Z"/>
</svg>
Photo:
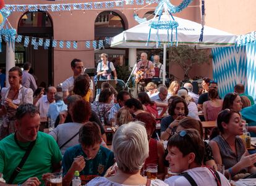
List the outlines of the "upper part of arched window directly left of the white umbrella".
<svg viewBox="0 0 256 186">
<path fill-rule="evenodd" d="M 116 36 L 124 30 L 124 20 L 116 12 L 102 12 L 96 17 L 95 40 Z"/>
</svg>

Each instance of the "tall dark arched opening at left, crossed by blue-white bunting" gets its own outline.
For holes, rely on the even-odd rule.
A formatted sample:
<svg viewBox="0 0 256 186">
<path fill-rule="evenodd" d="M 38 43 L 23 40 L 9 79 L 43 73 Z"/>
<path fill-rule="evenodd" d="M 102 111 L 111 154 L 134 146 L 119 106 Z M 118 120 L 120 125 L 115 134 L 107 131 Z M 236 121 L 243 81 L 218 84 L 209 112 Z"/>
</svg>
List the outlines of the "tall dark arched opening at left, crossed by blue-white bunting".
<svg viewBox="0 0 256 186">
<path fill-rule="evenodd" d="M 22 36 L 53 39 L 53 22 L 47 12 L 26 12 L 20 17 L 17 33 Z M 22 66 L 24 62 L 30 62 L 34 70 L 35 76 L 38 78 L 38 85 L 53 84 L 53 48 L 50 46 L 44 49 L 43 46 L 38 46 L 34 49 L 30 44 L 28 47 L 23 47 L 23 40 L 15 49 L 15 62 Z"/>
</svg>

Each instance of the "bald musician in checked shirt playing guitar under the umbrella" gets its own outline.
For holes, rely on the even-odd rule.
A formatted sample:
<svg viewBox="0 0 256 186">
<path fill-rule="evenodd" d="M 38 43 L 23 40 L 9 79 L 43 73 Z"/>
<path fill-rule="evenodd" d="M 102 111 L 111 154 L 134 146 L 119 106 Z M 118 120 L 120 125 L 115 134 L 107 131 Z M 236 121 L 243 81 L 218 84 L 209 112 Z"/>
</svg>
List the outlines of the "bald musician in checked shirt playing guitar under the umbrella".
<svg viewBox="0 0 256 186">
<path fill-rule="evenodd" d="M 140 54 L 140 61 L 137 63 L 137 67 L 134 71 L 135 82 L 138 86 L 138 93 L 145 91 L 144 87 L 155 75 L 153 63 L 150 60 L 147 60 L 147 58 L 147 53 L 142 52 L 142 54 Z"/>
</svg>

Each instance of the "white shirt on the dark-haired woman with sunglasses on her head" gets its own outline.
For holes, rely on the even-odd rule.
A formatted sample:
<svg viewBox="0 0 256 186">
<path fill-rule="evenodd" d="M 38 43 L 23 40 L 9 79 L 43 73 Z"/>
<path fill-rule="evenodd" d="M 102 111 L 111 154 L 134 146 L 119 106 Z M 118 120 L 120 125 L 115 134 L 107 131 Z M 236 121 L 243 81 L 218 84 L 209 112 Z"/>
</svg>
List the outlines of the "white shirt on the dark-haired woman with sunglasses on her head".
<svg viewBox="0 0 256 186">
<path fill-rule="evenodd" d="M 208 168 L 200 167 L 200 168 L 193 168 L 187 171 L 189 176 L 191 176 L 195 183 L 198 186 L 216 186 L 216 180 L 213 174 L 209 171 Z M 221 186 L 228 186 L 230 185 L 226 177 L 223 176 L 220 172 L 218 172 L 220 179 L 221 179 Z M 164 180 L 166 184 L 169 186 L 191 186 L 189 181 L 184 176 L 172 176 L 168 179 Z"/>
</svg>

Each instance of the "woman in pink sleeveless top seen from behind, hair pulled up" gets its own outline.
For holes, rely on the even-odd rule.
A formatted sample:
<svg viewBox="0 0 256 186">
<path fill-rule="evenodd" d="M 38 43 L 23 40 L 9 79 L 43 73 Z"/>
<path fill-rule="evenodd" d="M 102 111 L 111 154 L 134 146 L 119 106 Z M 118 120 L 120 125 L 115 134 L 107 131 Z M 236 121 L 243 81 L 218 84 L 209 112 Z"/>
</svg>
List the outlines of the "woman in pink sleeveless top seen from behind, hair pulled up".
<svg viewBox="0 0 256 186">
<path fill-rule="evenodd" d="M 203 102 L 203 115 L 205 121 L 215 121 L 221 111 L 223 100 L 218 99 L 218 91 L 210 89 L 208 92 L 209 101 Z"/>
</svg>

